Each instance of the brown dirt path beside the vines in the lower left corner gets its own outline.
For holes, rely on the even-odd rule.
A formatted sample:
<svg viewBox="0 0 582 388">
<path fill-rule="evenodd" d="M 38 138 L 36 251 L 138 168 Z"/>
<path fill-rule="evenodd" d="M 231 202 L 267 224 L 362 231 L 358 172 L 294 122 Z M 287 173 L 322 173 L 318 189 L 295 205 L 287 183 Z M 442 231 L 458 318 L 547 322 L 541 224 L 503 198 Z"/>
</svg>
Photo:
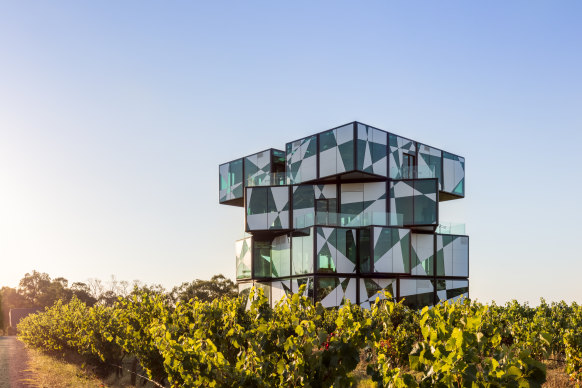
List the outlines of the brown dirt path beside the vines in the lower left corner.
<svg viewBox="0 0 582 388">
<path fill-rule="evenodd" d="M 31 378 L 27 360 L 22 342 L 16 337 L 0 337 L 0 388 L 33 386 L 25 382 Z"/>
</svg>

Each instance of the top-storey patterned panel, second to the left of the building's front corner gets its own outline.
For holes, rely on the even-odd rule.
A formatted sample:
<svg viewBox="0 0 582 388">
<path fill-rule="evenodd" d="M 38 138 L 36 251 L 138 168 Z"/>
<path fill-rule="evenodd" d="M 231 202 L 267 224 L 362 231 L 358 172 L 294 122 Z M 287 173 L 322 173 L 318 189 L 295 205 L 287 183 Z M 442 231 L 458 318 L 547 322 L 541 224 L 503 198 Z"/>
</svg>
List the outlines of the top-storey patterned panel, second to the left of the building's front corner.
<svg viewBox="0 0 582 388">
<path fill-rule="evenodd" d="M 317 136 L 287 143 L 287 183 L 298 184 L 317 178 Z"/>
</svg>

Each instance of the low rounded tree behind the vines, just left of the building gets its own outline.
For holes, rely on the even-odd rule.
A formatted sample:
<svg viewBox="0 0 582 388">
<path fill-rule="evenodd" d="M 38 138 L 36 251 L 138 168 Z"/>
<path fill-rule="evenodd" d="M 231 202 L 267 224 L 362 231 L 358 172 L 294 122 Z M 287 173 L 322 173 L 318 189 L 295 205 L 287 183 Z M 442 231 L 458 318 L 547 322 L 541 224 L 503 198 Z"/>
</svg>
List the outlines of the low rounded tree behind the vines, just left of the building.
<svg viewBox="0 0 582 388">
<path fill-rule="evenodd" d="M 223 296 L 236 297 L 237 295 L 236 284 L 224 275 L 214 275 L 210 280 L 196 279 L 191 283 L 184 282 L 180 286 L 174 287 L 171 292 L 174 303 L 186 302 L 193 298 L 210 302 Z"/>
</svg>

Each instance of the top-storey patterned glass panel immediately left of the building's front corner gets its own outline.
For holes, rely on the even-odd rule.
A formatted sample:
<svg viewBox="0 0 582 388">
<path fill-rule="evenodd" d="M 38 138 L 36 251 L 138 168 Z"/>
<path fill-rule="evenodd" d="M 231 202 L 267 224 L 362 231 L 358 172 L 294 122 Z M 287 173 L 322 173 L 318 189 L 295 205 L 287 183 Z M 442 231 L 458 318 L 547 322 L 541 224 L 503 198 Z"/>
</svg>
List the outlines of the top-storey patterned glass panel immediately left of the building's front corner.
<svg viewBox="0 0 582 388">
<path fill-rule="evenodd" d="M 354 127 L 352 124 L 319 135 L 319 177 L 354 169 Z"/>
</svg>

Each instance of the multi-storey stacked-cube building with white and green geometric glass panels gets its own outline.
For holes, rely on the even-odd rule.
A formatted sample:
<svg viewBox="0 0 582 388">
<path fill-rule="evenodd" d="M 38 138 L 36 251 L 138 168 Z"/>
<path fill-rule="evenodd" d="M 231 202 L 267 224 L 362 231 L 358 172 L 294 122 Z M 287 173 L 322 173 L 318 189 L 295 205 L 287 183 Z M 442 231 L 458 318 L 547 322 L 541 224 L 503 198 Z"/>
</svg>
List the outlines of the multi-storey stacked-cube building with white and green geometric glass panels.
<svg viewBox="0 0 582 388">
<path fill-rule="evenodd" d="M 439 202 L 465 196 L 465 159 L 359 122 L 219 167 L 221 204 L 245 209 L 239 290 L 274 305 L 306 284 L 325 307 L 389 291 L 412 308 L 469 294 L 469 237 Z"/>
</svg>

